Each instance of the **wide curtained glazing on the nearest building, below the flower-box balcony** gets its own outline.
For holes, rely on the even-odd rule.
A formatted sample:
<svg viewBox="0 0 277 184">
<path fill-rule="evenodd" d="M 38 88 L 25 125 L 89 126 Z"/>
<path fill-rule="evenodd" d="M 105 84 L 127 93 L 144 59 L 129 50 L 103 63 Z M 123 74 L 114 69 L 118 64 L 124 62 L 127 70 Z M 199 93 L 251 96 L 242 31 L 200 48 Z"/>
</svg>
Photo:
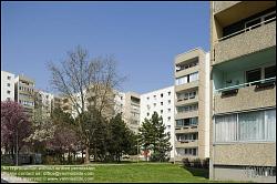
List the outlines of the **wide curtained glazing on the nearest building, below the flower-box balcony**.
<svg viewBox="0 0 277 184">
<path fill-rule="evenodd" d="M 215 116 L 215 142 L 275 140 L 275 109 Z"/>
</svg>

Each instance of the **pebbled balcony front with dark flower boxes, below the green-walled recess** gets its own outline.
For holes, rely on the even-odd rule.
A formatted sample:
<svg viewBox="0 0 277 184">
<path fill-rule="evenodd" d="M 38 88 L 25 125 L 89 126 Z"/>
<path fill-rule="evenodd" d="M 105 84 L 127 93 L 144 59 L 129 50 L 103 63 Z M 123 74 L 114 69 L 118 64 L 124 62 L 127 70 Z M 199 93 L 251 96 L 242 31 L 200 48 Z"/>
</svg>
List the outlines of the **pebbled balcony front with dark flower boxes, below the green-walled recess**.
<svg viewBox="0 0 277 184">
<path fill-rule="evenodd" d="M 218 89 L 215 114 L 276 105 L 276 78 Z"/>
</svg>

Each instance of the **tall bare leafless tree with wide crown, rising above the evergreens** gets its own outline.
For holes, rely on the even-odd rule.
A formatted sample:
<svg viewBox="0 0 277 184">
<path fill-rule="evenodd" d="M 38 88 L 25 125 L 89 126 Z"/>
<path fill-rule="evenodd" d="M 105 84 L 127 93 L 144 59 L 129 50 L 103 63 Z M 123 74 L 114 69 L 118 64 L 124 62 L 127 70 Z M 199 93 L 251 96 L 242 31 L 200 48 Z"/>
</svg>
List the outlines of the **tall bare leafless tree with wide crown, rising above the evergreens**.
<svg viewBox="0 0 277 184">
<path fill-rule="evenodd" d="M 89 59 L 88 51 L 76 47 L 68 52 L 68 58 L 61 67 L 49 63 L 52 74 L 51 84 L 63 96 L 68 98 L 73 111 L 78 114 L 79 132 L 85 145 L 85 162 L 90 163 L 90 134 L 84 130 L 84 113 L 88 106 L 103 114 L 114 101 L 113 89 L 120 86 L 124 78 L 116 73 L 116 62 L 113 57 Z"/>
</svg>

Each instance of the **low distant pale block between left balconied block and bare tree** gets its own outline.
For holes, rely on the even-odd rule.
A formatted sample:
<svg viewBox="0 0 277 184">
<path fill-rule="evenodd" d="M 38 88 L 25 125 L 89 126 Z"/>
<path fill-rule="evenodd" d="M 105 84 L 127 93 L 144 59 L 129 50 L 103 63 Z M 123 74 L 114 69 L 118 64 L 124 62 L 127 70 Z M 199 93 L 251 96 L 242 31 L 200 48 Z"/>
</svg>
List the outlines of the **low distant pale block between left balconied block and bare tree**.
<svg viewBox="0 0 277 184">
<path fill-rule="evenodd" d="M 48 116 L 52 112 L 52 101 L 54 95 L 41 90 L 34 90 L 34 109 L 41 110 L 41 112 Z"/>
</svg>

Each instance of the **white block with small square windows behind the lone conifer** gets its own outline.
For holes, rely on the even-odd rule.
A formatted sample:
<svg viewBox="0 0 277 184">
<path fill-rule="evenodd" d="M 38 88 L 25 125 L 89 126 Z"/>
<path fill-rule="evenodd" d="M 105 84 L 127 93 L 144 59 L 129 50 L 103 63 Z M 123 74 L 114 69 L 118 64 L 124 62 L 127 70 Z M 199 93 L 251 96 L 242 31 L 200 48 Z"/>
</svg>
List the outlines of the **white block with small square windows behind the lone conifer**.
<svg viewBox="0 0 277 184">
<path fill-rule="evenodd" d="M 151 119 L 154 112 L 163 117 L 166 132 L 171 135 L 172 151 L 170 161 L 174 161 L 174 86 L 151 91 L 141 95 L 141 117 L 140 124 L 145 119 Z"/>
</svg>

